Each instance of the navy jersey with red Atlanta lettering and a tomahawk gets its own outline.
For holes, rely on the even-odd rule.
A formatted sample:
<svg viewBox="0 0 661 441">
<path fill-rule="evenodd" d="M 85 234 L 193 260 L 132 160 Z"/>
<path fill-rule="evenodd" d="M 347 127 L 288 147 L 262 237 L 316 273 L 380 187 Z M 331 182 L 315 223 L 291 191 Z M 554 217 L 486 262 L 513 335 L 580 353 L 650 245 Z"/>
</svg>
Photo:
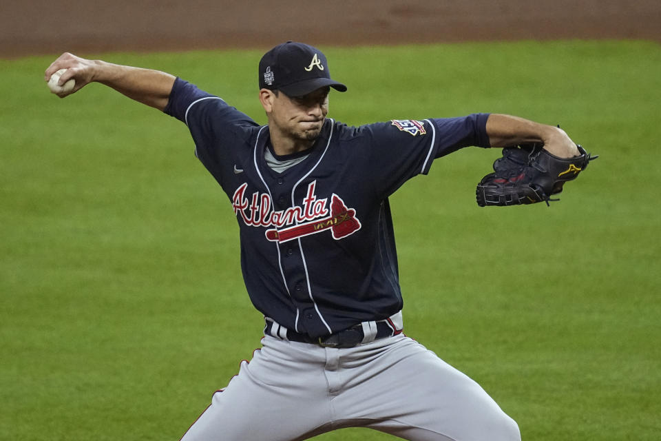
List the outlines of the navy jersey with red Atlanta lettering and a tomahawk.
<svg viewBox="0 0 661 441">
<path fill-rule="evenodd" d="M 229 197 L 241 267 L 264 316 L 313 337 L 384 320 L 403 305 L 388 196 L 432 160 L 489 147 L 487 114 L 351 127 L 326 119 L 304 161 L 264 160 L 269 127 L 177 79 L 165 109 Z"/>
</svg>

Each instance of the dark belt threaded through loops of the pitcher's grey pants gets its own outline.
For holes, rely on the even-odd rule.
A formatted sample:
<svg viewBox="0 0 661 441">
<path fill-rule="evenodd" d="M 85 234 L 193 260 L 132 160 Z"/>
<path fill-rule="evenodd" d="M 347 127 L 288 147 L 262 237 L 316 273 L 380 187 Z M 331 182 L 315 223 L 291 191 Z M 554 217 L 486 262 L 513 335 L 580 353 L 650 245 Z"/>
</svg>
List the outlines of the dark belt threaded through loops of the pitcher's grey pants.
<svg viewBox="0 0 661 441">
<path fill-rule="evenodd" d="M 282 331 L 280 331 L 280 329 L 275 329 L 275 332 L 273 332 L 273 327 L 279 328 L 280 325 L 267 318 L 266 327 L 264 327 L 264 334 L 269 336 L 277 336 L 278 338 L 282 338 L 284 340 L 285 336 L 282 335 Z M 379 338 L 386 338 L 401 333 L 401 329 L 395 329 L 395 327 L 390 325 L 388 320 L 380 320 L 376 322 L 376 327 L 377 334 L 373 340 L 378 340 Z M 308 334 L 300 334 L 299 332 L 292 331 L 291 329 L 287 329 L 286 333 L 284 334 L 286 335 L 286 340 L 293 342 L 313 343 L 315 345 L 333 347 L 337 349 L 355 347 L 359 345 L 365 338 L 363 326 L 360 324 L 348 329 L 344 329 L 344 331 L 338 331 L 335 334 L 317 338 L 308 336 Z"/>
</svg>

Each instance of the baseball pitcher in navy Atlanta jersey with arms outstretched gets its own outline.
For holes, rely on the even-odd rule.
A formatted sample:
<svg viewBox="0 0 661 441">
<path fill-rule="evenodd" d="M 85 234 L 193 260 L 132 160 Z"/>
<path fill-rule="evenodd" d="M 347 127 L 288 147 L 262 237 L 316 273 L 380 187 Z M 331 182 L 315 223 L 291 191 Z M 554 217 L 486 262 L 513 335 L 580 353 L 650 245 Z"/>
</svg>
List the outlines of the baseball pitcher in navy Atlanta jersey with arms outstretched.
<svg viewBox="0 0 661 441">
<path fill-rule="evenodd" d="M 304 440 L 344 427 L 521 439 L 479 384 L 403 334 L 388 197 L 474 145 L 505 147 L 476 189 L 480 205 L 548 202 L 589 162 L 563 130 L 501 114 L 346 125 L 328 117 L 330 90 L 346 85 L 320 50 L 291 41 L 259 63 L 263 126 L 165 72 L 65 53 L 45 80 L 60 70 L 59 85 L 75 83 L 60 96 L 96 81 L 185 123 L 236 215 L 262 347 L 182 440 Z"/>
</svg>

